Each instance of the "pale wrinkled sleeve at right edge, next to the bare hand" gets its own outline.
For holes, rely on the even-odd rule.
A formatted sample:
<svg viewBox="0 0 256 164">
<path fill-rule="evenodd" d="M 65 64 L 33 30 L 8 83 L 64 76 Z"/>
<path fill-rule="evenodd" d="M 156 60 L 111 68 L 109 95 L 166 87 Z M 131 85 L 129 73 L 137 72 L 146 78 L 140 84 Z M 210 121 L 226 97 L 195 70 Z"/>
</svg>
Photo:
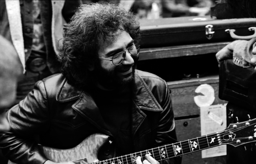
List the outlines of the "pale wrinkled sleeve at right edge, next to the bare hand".
<svg viewBox="0 0 256 164">
<path fill-rule="evenodd" d="M 252 54 L 252 49 L 256 46 L 256 38 L 252 38 L 249 41 L 246 40 L 238 40 L 236 46 L 234 46 L 233 51 L 233 62 L 240 67 L 251 67 L 249 65 L 250 60 L 254 57 Z M 237 62 L 238 60 L 241 62 Z M 246 62 L 244 62 L 246 61 Z"/>
</svg>

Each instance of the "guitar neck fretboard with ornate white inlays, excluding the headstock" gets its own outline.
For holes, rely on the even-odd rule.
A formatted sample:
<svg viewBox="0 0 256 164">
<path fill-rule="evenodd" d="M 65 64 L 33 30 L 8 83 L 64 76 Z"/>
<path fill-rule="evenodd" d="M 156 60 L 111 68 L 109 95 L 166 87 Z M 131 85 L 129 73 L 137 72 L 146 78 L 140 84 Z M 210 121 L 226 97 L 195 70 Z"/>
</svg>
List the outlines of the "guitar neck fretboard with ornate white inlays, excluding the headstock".
<svg viewBox="0 0 256 164">
<path fill-rule="evenodd" d="M 221 144 L 223 143 L 220 140 L 220 133 L 214 133 L 191 140 L 159 146 L 157 148 L 152 148 L 125 156 L 94 162 L 92 164 L 136 164 L 137 156 L 141 156 L 142 160 L 144 160 L 146 154 L 150 154 L 157 161 L 161 161 L 168 158 L 182 156 L 192 152 L 212 148 Z"/>
</svg>

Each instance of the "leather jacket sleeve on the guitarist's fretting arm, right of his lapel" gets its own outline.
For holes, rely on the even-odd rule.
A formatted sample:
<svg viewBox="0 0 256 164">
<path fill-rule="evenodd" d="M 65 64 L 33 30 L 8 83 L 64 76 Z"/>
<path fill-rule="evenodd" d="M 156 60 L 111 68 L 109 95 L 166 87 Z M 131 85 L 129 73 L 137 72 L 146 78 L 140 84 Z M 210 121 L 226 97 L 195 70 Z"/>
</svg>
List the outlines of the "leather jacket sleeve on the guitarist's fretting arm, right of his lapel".
<svg viewBox="0 0 256 164">
<path fill-rule="evenodd" d="M 160 114 L 160 119 L 156 131 L 155 147 L 165 144 L 172 144 L 177 142 L 177 136 L 175 131 L 174 113 L 172 109 L 172 101 L 170 91 L 166 82 L 164 81 L 165 88 L 162 90 L 161 95 L 162 102 L 159 102 L 163 111 Z M 163 160 L 161 164 L 181 164 L 182 157 L 174 157 L 168 160 Z"/>
</svg>

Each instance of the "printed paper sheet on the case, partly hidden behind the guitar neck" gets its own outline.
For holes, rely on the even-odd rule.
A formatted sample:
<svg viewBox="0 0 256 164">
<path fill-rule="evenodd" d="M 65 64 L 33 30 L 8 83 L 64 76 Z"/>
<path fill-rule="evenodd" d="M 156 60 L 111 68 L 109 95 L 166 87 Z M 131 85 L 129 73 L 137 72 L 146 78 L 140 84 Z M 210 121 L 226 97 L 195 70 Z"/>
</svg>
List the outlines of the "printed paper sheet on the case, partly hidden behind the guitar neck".
<svg viewBox="0 0 256 164">
<path fill-rule="evenodd" d="M 226 128 L 226 105 L 200 107 L 201 135 L 221 132 Z M 226 145 L 202 150 L 202 158 L 226 155 Z"/>
</svg>

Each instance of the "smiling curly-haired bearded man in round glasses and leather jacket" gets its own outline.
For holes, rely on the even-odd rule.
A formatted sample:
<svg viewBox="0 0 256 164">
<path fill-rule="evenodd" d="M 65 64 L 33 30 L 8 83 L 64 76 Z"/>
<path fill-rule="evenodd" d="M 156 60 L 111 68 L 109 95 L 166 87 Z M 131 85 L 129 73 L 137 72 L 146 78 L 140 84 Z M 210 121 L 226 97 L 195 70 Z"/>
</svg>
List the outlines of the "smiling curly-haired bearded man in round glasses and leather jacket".
<svg viewBox="0 0 256 164">
<path fill-rule="evenodd" d="M 166 82 L 135 69 L 139 30 L 136 16 L 123 8 L 82 5 L 62 41 L 62 74 L 36 83 L 8 111 L 11 130 L 0 137 L 3 154 L 18 164 L 51 164 L 38 144 L 69 149 L 96 133 L 110 137 L 105 156 L 111 150 L 123 156 L 176 142 Z M 150 155 L 142 158 L 144 164 L 158 164 Z"/>
</svg>

